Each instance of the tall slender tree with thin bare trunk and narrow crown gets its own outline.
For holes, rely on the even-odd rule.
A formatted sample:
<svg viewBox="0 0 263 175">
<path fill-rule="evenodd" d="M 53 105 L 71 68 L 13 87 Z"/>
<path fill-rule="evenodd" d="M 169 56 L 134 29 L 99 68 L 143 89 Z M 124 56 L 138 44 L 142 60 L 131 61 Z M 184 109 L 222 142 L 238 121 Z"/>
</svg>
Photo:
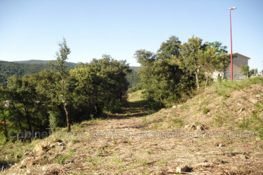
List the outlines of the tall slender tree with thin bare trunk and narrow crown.
<svg viewBox="0 0 263 175">
<path fill-rule="evenodd" d="M 71 132 L 71 122 L 69 118 L 69 110 L 67 109 L 67 105 L 69 104 L 69 92 L 67 92 L 67 83 L 69 77 L 69 67 L 67 66 L 66 60 L 68 59 L 68 55 L 70 54 L 70 49 L 67 46 L 67 41 L 63 38 L 63 42 L 59 44 L 60 49 L 56 52 L 57 60 L 56 62 L 49 62 L 50 66 L 53 66 L 55 71 L 58 72 L 59 81 L 58 81 L 58 89 L 57 89 L 57 99 L 60 102 L 65 110 L 65 114 L 67 117 L 67 131 Z"/>
</svg>

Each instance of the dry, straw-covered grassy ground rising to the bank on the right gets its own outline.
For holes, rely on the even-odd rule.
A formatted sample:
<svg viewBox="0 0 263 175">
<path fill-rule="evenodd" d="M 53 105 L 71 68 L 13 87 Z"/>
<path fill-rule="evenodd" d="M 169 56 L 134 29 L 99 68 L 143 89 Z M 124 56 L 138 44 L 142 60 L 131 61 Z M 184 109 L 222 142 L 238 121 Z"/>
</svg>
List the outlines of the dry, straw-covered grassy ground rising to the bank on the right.
<svg viewBox="0 0 263 175">
<path fill-rule="evenodd" d="M 153 114 L 142 93 L 130 95 L 123 113 L 39 141 L 4 174 L 262 173 L 263 78 L 215 84 Z"/>
</svg>

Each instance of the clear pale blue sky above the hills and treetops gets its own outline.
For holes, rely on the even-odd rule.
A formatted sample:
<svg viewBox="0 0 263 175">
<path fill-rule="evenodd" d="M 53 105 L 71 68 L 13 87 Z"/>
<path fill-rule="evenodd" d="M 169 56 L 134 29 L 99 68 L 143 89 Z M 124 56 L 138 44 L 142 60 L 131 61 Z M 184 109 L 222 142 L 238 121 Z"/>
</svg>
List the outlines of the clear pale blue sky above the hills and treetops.
<svg viewBox="0 0 263 175">
<path fill-rule="evenodd" d="M 90 62 L 103 54 L 136 62 L 136 50 L 156 52 L 163 41 L 193 35 L 220 41 L 230 52 L 250 57 L 263 69 L 261 0 L 0 0 L 0 60 L 52 60 L 67 39 L 69 62 Z"/>
</svg>

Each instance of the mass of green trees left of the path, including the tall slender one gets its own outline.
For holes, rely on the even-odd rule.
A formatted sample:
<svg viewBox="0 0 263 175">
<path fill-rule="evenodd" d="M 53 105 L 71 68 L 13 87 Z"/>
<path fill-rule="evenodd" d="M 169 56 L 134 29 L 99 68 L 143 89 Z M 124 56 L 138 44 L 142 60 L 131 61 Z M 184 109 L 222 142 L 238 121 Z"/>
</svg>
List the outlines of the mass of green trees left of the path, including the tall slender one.
<svg viewBox="0 0 263 175">
<path fill-rule="evenodd" d="M 64 38 L 57 60 L 48 63 L 53 69 L 11 76 L 6 86 L 0 85 L 0 121 L 8 123 L 0 128 L 5 140 L 9 130 L 14 130 L 13 136 L 24 130 L 43 132 L 49 128 L 54 132 L 56 127 L 67 124 L 70 131 L 71 123 L 100 117 L 102 111 L 122 109 L 129 85 L 126 76 L 131 73 L 128 64 L 102 55 L 102 59 L 80 63 L 72 69 L 66 62 L 69 53 Z"/>
</svg>

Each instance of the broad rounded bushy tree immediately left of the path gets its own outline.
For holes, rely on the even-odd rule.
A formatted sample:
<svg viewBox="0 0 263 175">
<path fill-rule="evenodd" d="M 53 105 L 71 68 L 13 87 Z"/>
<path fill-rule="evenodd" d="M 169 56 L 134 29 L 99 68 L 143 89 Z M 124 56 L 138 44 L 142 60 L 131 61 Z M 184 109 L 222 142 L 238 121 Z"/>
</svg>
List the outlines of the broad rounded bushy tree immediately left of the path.
<svg viewBox="0 0 263 175">
<path fill-rule="evenodd" d="M 126 74 L 130 72 L 125 61 L 102 55 L 89 64 L 79 64 L 70 70 L 70 89 L 76 110 L 88 116 L 100 116 L 103 109 L 114 111 L 125 101 L 128 90 Z"/>
</svg>

